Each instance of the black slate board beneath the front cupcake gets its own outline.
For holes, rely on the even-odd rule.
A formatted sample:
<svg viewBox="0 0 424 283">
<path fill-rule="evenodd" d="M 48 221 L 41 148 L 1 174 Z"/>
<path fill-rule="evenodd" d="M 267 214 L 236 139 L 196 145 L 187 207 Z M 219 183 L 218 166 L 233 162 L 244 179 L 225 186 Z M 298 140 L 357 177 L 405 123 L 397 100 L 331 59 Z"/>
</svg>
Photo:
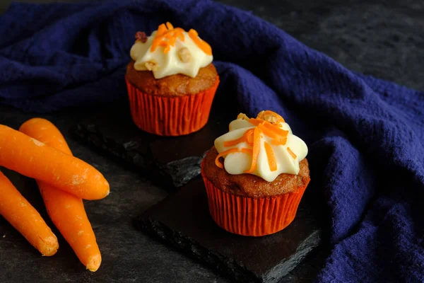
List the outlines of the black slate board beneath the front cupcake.
<svg viewBox="0 0 424 283">
<path fill-rule="evenodd" d="M 144 212 L 136 227 L 238 282 L 279 282 L 320 242 L 321 231 L 307 197 L 283 231 L 263 237 L 221 229 L 208 211 L 201 178 Z"/>
</svg>

